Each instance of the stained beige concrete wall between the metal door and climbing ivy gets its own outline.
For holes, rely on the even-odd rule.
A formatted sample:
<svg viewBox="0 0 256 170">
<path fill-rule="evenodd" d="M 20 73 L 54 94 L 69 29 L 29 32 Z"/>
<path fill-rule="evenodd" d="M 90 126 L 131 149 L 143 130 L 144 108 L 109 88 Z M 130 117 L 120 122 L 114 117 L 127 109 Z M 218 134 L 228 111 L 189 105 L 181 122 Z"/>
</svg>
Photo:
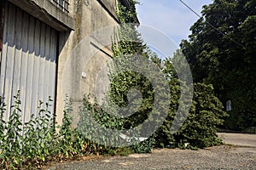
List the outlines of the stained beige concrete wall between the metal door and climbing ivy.
<svg viewBox="0 0 256 170">
<path fill-rule="evenodd" d="M 56 121 L 59 124 L 66 94 L 73 103 L 73 118 L 77 122 L 83 94 L 101 97 L 108 88 L 107 61 L 111 59 L 109 47 L 113 31 L 104 32 L 100 39 L 90 35 L 106 26 L 118 24 L 115 6 L 115 0 L 71 1 L 70 15 L 75 20 L 74 31 L 62 32 L 60 36 L 56 95 Z M 101 44 L 108 44 L 108 47 Z M 82 77 L 82 73 L 85 73 L 85 77 Z"/>
</svg>

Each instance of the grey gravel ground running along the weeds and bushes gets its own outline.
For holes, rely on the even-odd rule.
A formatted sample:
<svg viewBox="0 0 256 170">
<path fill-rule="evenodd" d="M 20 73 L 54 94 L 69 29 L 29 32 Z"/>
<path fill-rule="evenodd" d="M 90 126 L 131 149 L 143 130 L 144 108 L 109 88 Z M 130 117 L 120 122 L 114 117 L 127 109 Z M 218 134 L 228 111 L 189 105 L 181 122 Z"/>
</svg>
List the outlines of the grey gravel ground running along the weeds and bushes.
<svg viewBox="0 0 256 170">
<path fill-rule="evenodd" d="M 205 150 L 154 150 L 152 154 L 103 157 L 57 164 L 50 170 L 256 169 L 256 135 L 219 133 L 227 143 Z M 235 144 L 235 145 L 230 145 Z"/>
</svg>

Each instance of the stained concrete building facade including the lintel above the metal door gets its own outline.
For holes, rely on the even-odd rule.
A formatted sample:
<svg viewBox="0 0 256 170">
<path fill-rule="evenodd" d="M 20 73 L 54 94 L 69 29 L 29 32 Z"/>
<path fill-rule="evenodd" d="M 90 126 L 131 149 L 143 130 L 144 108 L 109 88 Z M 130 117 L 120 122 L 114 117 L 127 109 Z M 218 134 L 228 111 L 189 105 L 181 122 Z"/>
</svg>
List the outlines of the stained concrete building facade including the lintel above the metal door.
<svg viewBox="0 0 256 170">
<path fill-rule="evenodd" d="M 108 88 L 107 62 L 112 55 L 113 30 L 99 30 L 119 23 L 117 0 L 70 0 L 68 14 L 49 0 L 8 1 L 59 31 L 56 122 L 61 124 L 66 94 L 73 104 L 76 122 L 83 95 L 102 98 Z M 95 31 L 100 33 L 94 34 Z"/>
</svg>

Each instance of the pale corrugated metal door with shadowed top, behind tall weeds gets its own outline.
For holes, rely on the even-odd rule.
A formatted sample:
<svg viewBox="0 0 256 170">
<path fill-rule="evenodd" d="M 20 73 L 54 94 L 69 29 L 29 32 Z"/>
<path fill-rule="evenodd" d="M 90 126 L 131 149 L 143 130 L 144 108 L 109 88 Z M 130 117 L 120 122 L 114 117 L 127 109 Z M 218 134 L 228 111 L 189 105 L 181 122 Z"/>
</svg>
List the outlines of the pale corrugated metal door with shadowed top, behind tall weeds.
<svg viewBox="0 0 256 170">
<path fill-rule="evenodd" d="M 8 105 L 20 90 L 23 122 L 37 115 L 39 100 L 55 100 L 57 31 L 8 3 L 5 9 L 0 95 Z M 49 108 L 53 111 L 52 106 Z"/>
</svg>

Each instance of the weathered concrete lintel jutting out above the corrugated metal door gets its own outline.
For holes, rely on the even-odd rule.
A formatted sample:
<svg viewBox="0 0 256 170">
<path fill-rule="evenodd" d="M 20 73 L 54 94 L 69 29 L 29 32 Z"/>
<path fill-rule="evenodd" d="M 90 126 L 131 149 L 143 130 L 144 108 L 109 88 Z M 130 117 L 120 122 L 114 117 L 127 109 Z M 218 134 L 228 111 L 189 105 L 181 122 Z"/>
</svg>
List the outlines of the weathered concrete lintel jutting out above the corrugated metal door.
<svg viewBox="0 0 256 170">
<path fill-rule="evenodd" d="M 32 14 L 38 20 L 44 21 L 57 31 L 74 30 L 73 18 L 61 11 L 55 4 L 50 3 L 49 0 L 9 0 L 9 2 Z"/>
</svg>

